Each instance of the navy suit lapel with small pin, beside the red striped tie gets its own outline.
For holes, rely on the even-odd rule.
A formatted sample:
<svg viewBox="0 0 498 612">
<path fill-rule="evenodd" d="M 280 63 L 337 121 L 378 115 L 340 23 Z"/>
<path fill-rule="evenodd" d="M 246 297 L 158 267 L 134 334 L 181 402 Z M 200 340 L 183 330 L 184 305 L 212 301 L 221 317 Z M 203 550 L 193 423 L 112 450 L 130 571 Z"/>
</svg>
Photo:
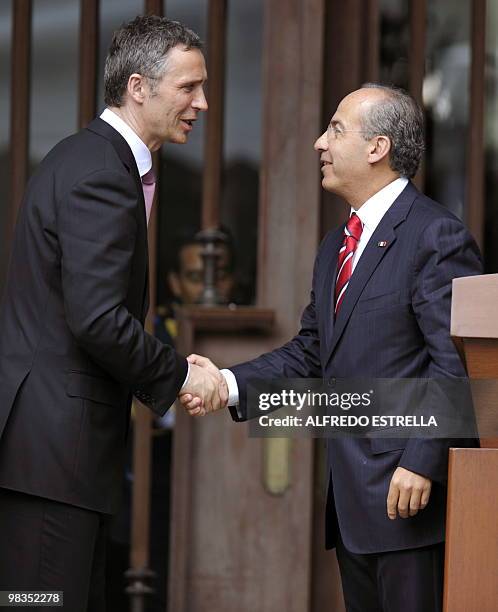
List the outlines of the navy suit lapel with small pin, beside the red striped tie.
<svg viewBox="0 0 498 612">
<path fill-rule="evenodd" d="M 406 215 L 408 214 L 417 195 L 418 191 L 415 186 L 412 183 L 408 183 L 405 189 L 394 201 L 393 205 L 382 217 L 379 225 L 370 237 L 370 240 L 368 241 L 368 244 L 360 257 L 353 275 L 351 276 L 335 322 L 331 324 L 332 337 L 328 347 L 329 357 L 327 363 L 332 357 L 334 349 L 344 332 L 347 322 L 349 321 L 349 318 L 365 285 L 386 253 L 396 242 L 395 228 L 405 220 Z M 337 255 L 335 261 L 337 266 Z M 333 285 L 332 291 L 335 289 L 335 274 Z M 333 295 L 333 293 L 331 295 Z M 334 318 L 333 301 L 331 302 L 330 318 Z"/>
</svg>

